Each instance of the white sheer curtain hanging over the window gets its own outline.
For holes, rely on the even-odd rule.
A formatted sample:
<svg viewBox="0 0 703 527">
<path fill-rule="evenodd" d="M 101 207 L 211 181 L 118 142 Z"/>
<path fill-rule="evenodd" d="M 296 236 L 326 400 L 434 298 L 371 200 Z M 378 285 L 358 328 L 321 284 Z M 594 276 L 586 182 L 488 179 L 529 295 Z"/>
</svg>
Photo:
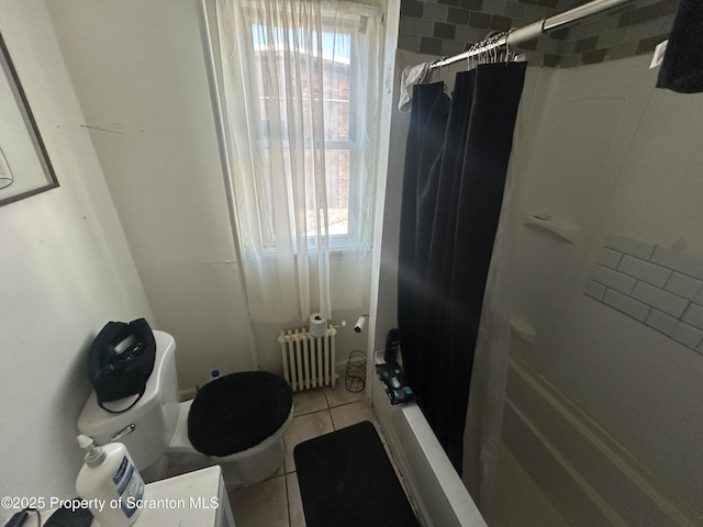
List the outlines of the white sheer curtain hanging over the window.
<svg viewBox="0 0 703 527">
<path fill-rule="evenodd" d="M 234 223 L 254 322 L 361 307 L 381 92 L 380 10 L 217 0 Z M 357 305 L 358 304 L 358 305 Z"/>
</svg>

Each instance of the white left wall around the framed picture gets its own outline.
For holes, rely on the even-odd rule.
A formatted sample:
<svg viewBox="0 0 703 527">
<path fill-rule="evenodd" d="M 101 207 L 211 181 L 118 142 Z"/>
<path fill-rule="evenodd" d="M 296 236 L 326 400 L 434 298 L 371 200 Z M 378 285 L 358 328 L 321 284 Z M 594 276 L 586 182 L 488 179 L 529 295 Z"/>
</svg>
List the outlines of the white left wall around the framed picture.
<svg viewBox="0 0 703 527">
<path fill-rule="evenodd" d="M 0 2 L 0 32 L 60 183 L 0 208 L 0 495 L 70 497 L 87 348 L 153 318 L 44 3 Z"/>
</svg>

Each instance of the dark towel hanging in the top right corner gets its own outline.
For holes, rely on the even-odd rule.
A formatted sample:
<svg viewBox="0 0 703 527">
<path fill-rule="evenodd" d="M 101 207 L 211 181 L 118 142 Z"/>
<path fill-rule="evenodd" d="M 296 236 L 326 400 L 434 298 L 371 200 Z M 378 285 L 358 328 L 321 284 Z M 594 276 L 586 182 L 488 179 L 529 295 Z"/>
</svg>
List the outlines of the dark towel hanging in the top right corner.
<svg viewBox="0 0 703 527">
<path fill-rule="evenodd" d="M 680 93 L 703 92 L 703 1 L 680 1 L 657 88 Z"/>
</svg>

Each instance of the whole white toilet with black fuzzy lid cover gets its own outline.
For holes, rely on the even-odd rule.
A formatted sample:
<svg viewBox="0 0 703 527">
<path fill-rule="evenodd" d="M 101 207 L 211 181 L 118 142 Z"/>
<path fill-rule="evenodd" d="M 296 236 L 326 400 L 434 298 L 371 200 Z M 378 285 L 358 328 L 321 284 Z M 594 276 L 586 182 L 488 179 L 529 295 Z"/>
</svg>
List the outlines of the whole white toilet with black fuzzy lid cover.
<svg viewBox="0 0 703 527">
<path fill-rule="evenodd" d="M 292 390 L 278 375 L 247 371 L 205 384 L 179 402 L 176 341 L 155 330 L 156 360 L 144 395 L 130 410 L 112 414 L 88 397 L 78 430 L 98 445 L 123 442 L 146 481 L 166 476 L 174 460 L 220 464 L 227 487 L 274 475 L 283 463 L 283 434 L 293 417 Z M 104 403 L 124 408 L 130 397 Z"/>
</svg>

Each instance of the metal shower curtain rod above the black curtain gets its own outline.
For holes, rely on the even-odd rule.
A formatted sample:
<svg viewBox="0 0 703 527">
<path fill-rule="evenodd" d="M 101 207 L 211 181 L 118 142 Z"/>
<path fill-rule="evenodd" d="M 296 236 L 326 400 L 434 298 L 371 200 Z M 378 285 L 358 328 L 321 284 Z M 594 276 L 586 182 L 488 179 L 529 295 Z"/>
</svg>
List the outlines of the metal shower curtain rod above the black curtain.
<svg viewBox="0 0 703 527">
<path fill-rule="evenodd" d="M 504 45 L 507 45 L 510 47 L 521 42 L 536 38 L 546 31 L 551 31 L 557 27 L 561 27 L 562 25 L 571 24 L 592 14 L 596 14 L 607 9 L 615 8 L 617 5 L 632 1 L 633 0 L 593 0 L 592 2 L 584 3 L 583 5 L 570 9 L 569 11 L 565 11 L 563 13 L 555 14 L 554 16 L 543 19 L 524 27 L 520 27 L 517 30 L 502 33 L 494 37 L 481 41 L 475 47 L 471 47 L 468 52 L 455 55 L 454 57 L 435 60 L 429 65 L 429 68 L 439 68 L 442 66 L 447 66 L 448 64 L 464 60 L 465 58 L 473 57 L 476 55 L 480 55 L 481 53 L 486 53 Z"/>
</svg>

